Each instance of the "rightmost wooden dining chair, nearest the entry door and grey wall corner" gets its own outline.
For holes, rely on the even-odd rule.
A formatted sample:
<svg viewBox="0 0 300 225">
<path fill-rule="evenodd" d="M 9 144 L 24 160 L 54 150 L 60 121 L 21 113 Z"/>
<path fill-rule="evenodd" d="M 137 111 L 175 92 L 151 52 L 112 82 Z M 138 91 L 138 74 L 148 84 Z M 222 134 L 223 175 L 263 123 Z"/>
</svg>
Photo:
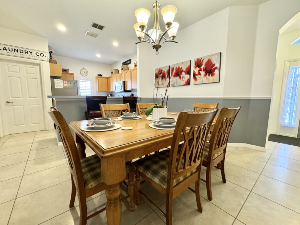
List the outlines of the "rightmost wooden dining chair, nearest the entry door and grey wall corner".
<svg viewBox="0 0 300 225">
<path fill-rule="evenodd" d="M 241 106 L 234 109 L 222 108 L 214 125 L 210 143 L 205 143 L 202 166 L 207 168 L 206 180 L 201 180 L 206 182 L 207 197 L 210 201 L 212 200 L 211 169 L 213 167 L 216 166 L 221 170 L 222 181 L 226 183 L 224 171 L 226 147 L 232 124 L 240 108 Z"/>
</svg>

